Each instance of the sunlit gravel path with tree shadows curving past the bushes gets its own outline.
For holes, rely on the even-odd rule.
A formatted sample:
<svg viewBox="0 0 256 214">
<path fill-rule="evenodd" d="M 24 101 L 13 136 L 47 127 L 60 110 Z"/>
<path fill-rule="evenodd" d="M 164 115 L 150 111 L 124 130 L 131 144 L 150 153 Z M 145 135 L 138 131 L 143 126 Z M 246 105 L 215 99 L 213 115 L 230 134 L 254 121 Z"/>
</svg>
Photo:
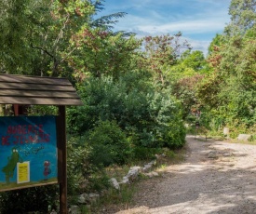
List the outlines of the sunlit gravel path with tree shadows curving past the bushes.
<svg viewBox="0 0 256 214">
<path fill-rule="evenodd" d="M 254 214 L 256 146 L 187 136 L 182 164 L 141 182 L 135 206 L 115 214 Z"/>
</svg>

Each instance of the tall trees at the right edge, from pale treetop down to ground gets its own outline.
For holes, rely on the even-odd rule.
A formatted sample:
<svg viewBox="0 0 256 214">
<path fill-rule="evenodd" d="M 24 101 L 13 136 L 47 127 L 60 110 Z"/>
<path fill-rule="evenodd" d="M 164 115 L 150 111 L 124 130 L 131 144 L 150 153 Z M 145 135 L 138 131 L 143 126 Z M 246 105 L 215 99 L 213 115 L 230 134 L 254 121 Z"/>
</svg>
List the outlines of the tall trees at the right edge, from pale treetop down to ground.
<svg viewBox="0 0 256 214">
<path fill-rule="evenodd" d="M 225 33 L 216 35 L 209 51 L 208 60 L 214 72 L 197 90 L 213 120 L 222 121 L 222 126 L 236 124 L 241 132 L 249 131 L 256 122 L 254 10 L 254 1 L 231 2 L 231 22 Z"/>
</svg>

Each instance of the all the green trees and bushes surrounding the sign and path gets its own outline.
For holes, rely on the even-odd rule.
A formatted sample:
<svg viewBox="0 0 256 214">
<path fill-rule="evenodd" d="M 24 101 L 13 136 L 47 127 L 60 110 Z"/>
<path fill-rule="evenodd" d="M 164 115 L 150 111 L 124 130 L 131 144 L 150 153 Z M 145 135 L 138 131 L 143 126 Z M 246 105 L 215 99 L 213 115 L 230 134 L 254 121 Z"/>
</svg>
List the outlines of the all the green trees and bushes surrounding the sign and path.
<svg viewBox="0 0 256 214">
<path fill-rule="evenodd" d="M 256 139 L 255 5 L 232 0 L 230 22 L 204 56 L 182 42 L 182 33 L 138 39 L 115 32 L 126 14 L 96 19 L 102 1 L 1 1 L 0 74 L 66 77 L 83 100 L 67 108 L 70 203 L 81 181 L 83 191 L 108 188 L 106 167 L 182 148 L 185 124 L 195 130 L 198 122 L 207 135 L 224 137 L 229 127 L 231 138 Z M 31 114 L 55 110 L 33 106 Z M 1 195 L 1 213 L 58 207 L 54 185 Z"/>
</svg>

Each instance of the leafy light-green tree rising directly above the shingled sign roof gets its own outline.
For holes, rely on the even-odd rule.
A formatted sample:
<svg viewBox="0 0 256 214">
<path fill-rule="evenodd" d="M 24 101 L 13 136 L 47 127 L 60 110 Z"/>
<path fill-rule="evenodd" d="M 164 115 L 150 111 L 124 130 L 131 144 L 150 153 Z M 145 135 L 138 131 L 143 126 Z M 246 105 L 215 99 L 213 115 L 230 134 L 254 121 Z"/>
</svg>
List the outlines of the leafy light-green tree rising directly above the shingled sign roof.
<svg viewBox="0 0 256 214">
<path fill-rule="evenodd" d="M 59 65 L 77 48 L 75 34 L 88 25 L 88 1 L 11 0 L 2 2 L 1 67 L 9 73 L 38 74 L 40 66 L 59 75 Z M 48 68 L 47 68 L 48 67 Z"/>
</svg>

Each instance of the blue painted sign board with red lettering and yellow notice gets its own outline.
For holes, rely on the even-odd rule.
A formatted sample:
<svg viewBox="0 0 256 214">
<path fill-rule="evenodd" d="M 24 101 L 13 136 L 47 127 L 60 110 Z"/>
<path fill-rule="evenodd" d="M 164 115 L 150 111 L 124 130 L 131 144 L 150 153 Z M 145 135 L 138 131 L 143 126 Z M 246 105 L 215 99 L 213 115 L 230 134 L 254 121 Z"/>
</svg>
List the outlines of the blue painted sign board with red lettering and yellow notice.
<svg viewBox="0 0 256 214">
<path fill-rule="evenodd" d="M 58 181 L 55 116 L 0 117 L 0 191 Z"/>
</svg>

